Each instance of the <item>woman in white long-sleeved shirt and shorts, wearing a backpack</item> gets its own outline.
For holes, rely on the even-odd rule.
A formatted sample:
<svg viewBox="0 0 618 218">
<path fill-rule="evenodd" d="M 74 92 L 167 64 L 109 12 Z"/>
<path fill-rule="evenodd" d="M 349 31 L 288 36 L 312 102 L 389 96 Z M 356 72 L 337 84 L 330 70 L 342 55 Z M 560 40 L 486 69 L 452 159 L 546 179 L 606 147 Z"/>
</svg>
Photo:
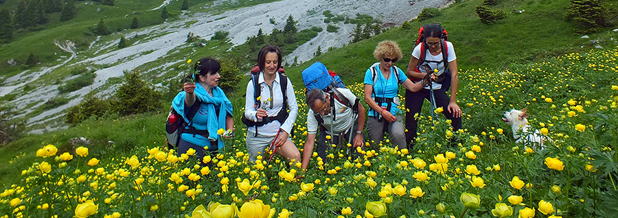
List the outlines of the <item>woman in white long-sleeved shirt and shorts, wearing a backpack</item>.
<svg viewBox="0 0 618 218">
<path fill-rule="evenodd" d="M 278 72 L 281 60 L 279 47 L 262 47 L 258 53 L 260 73 L 252 75 L 247 84 L 243 122 L 247 125 L 250 162 L 255 162 L 258 155 L 264 157 L 262 160 L 268 159 L 266 153 L 271 147 L 288 161 L 300 160 L 300 152 L 290 138 L 298 104 L 292 82 L 284 73 Z M 254 95 L 257 92 L 259 95 Z"/>
</svg>

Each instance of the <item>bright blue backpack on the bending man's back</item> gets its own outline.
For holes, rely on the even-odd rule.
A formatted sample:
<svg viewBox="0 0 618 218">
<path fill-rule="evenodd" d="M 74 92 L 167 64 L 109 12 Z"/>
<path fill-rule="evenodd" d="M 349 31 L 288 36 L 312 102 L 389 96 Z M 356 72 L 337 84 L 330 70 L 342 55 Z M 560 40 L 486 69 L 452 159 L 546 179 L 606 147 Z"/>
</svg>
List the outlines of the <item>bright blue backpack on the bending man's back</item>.
<svg viewBox="0 0 618 218">
<path fill-rule="evenodd" d="M 303 82 L 305 83 L 307 93 L 309 90 L 319 88 L 328 91 L 332 88 L 343 88 L 345 85 L 337 73 L 328 71 L 326 66 L 321 62 L 315 62 L 308 68 L 304 69 Z M 329 86 L 331 86 L 329 88 Z"/>
</svg>

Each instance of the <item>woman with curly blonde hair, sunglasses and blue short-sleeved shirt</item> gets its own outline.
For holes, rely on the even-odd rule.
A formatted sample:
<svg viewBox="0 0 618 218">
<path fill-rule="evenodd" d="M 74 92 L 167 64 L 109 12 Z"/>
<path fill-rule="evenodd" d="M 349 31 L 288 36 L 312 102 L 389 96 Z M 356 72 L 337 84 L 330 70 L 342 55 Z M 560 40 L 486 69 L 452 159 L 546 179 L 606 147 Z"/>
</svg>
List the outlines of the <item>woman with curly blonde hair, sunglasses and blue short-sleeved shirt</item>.
<svg viewBox="0 0 618 218">
<path fill-rule="evenodd" d="M 365 102 L 369 105 L 367 134 L 374 148 L 382 141 L 385 132 L 391 134 L 393 145 L 399 149 L 406 147 L 405 129 L 400 115 L 402 111 L 399 108 L 399 84 L 412 92 L 423 87 L 421 83 L 414 84 L 395 66 L 395 62 L 402 57 L 397 43 L 382 41 L 374 51 L 374 58 L 380 62 L 371 65 L 365 72 Z"/>
</svg>

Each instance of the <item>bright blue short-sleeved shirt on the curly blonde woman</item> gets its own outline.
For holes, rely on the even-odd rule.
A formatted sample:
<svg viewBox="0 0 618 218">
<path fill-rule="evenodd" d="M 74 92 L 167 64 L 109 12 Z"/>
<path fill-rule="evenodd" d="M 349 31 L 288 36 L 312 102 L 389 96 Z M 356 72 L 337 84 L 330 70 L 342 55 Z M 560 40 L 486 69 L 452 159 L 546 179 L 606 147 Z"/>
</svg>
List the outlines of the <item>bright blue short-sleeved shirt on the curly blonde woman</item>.
<svg viewBox="0 0 618 218">
<path fill-rule="evenodd" d="M 401 69 L 397 68 L 398 69 L 397 73 L 399 73 L 399 81 L 397 81 L 397 77 L 395 76 L 396 68 L 394 66 L 391 66 L 391 75 L 389 75 L 389 79 L 387 80 L 384 77 L 384 75 L 382 75 L 382 71 L 380 71 L 380 66 L 378 66 L 378 63 L 374 64 L 371 67 L 376 68 L 376 84 L 374 84 L 374 77 L 371 74 L 371 68 L 365 71 L 365 82 L 364 82 L 365 84 L 374 86 L 374 93 L 371 93 L 371 98 L 376 99 L 376 96 L 383 97 L 383 98 L 396 97 L 399 93 L 399 84 L 405 82 L 406 79 L 408 78 L 406 74 L 403 73 Z M 388 107 L 388 104 L 389 103 L 387 102 L 383 102 L 383 103 L 378 103 L 378 106 Z M 391 114 L 395 115 L 395 114 L 400 113 L 400 110 L 399 108 L 397 108 L 396 104 L 394 104 L 393 102 L 391 102 L 390 104 L 391 104 L 391 110 L 390 110 Z M 374 108 L 369 109 L 369 117 L 378 117 L 378 115 L 380 115 L 380 113 L 376 112 Z"/>
</svg>

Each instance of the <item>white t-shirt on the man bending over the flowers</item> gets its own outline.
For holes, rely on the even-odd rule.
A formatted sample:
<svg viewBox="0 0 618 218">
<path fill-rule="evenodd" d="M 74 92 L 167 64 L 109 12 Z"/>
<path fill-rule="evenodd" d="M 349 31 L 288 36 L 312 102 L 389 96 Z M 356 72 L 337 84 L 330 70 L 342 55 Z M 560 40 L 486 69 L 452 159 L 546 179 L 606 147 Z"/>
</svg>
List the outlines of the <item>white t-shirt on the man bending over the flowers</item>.
<svg viewBox="0 0 618 218">
<path fill-rule="evenodd" d="M 339 90 L 339 92 L 341 92 L 341 94 L 343 94 L 343 96 L 345 96 L 347 100 L 350 101 L 350 104 L 354 106 L 356 96 L 354 95 L 354 93 L 352 93 L 352 91 L 350 91 L 350 89 L 337 88 L 337 90 Z M 326 132 L 330 132 L 332 126 L 334 126 L 333 131 L 335 133 L 345 132 L 354 125 L 354 112 L 352 112 L 352 108 L 348 108 L 344 104 L 341 104 L 341 102 L 339 102 L 337 99 L 333 100 L 334 110 L 330 110 L 330 112 L 336 112 L 336 117 L 332 125 L 330 125 L 330 121 L 332 121 L 332 114 L 329 113 L 326 116 L 322 116 L 322 114 L 320 114 L 320 117 L 324 119 L 323 125 L 326 128 Z M 309 134 L 316 134 L 318 130 L 319 123 L 315 119 L 313 110 L 309 108 L 309 112 L 307 113 L 307 132 Z"/>
</svg>

